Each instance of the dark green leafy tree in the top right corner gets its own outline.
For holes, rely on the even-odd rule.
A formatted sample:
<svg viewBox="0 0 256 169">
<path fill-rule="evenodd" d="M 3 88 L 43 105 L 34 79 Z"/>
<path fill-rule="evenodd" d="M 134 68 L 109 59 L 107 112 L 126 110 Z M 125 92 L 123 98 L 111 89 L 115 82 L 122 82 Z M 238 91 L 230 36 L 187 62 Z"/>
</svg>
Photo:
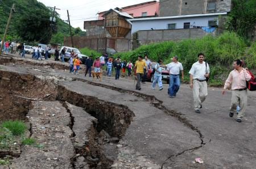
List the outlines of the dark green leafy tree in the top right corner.
<svg viewBox="0 0 256 169">
<path fill-rule="evenodd" d="M 233 8 L 226 22 L 226 29 L 237 32 L 242 37 L 249 38 L 255 29 L 255 0 L 233 0 Z"/>
</svg>

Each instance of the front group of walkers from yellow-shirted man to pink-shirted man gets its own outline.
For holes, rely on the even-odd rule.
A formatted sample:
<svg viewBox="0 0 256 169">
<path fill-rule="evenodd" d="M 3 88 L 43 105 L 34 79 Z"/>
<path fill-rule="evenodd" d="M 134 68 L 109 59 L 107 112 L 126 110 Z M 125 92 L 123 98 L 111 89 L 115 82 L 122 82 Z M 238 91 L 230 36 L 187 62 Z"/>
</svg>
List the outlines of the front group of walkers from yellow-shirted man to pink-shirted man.
<svg viewBox="0 0 256 169">
<path fill-rule="evenodd" d="M 196 113 L 201 113 L 200 109 L 203 107 L 203 102 L 207 98 L 207 81 L 209 79 L 210 67 L 207 62 L 204 61 L 204 54 L 199 53 L 197 55 L 198 61 L 195 62 L 189 70 L 190 81 L 189 86 L 192 89 L 193 104 Z M 142 78 L 147 74 L 148 67 L 151 66 L 151 62 L 147 61 L 147 56 L 142 59 L 142 56 L 138 56 L 138 61 L 135 63 L 137 73 L 137 85 L 136 90 L 141 90 Z M 232 90 L 232 103 L 230 105 L 229 116 L 233 117 L 237 112 L 237 122 L 242 122 L 242 118 L 245 114 L 247 105 L 247 88 L 246 81 L 251 79 L 251 75 L 246 69 L 242 67 L 242 61 L 236 60 L 233 63 L 234 70 L 230 72 L 228 79 L 225 82 L 224 90 L 222 94 L 225 94 L 227 89 Z M 162 84 L 162 70 L 167 68 L 170 73 L 170 83 L 168 88 L 168 95 L 170 98 L 175 98 L 180 87 L 180 72 L 181 78 L 184 79 L 184 71 L 182 64 L 178 61 L 178 57 L 174 56 L 172 62 L 168 65 L 163 65 L 162 60 L 158 60 L 158 63 L 154 66 L 154 80 L 152 82 L 152 89 L 155 89 L 156 82 L 158 82 L 159 90 L 163 90 Z"/>
</svg>

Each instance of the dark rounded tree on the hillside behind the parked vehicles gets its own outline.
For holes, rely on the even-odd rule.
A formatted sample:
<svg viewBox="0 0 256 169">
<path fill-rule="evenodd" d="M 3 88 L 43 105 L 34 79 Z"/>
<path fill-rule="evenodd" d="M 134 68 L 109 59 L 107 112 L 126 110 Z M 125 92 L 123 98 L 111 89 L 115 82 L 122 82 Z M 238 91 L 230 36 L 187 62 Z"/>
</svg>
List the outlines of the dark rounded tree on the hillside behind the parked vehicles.
<svg viewBox="0 0 256 169">
<path fill-rule="evenodd" d="M 16 26 L 18 35 L 24 41 L 39 41 L 48 44 L 52 36 L 50 16 L 48 11 L 30 10 L 29 14 L 24 14 L 18 20 Z"/>
</svg>

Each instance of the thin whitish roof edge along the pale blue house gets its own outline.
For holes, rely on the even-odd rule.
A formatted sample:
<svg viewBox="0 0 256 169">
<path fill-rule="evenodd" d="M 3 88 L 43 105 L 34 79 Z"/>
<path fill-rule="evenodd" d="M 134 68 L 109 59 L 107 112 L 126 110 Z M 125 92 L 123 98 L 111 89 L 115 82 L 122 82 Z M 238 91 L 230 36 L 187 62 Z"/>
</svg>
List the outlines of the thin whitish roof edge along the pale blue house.
<svg viewBox="0 0 256 169">
<path fill-rule="evenodd" d="M 151 18 L 134 18 L 129 19 L 129 21 L 139 21 L 139 20 L 158 20 L 158 19 L 175 19 L 175 18 L 191 18 L 191 17 L 199 17 L 199 16 L 216 16 L 216 15 L 226 15 L 227 12 L 218 12 L 218 13 L 210 13 L 210 14 L 193 14 L 193 15 L 178 15 L 178 16 L 162 16 L 162 17 L 151 17 Z"/>
</svg>

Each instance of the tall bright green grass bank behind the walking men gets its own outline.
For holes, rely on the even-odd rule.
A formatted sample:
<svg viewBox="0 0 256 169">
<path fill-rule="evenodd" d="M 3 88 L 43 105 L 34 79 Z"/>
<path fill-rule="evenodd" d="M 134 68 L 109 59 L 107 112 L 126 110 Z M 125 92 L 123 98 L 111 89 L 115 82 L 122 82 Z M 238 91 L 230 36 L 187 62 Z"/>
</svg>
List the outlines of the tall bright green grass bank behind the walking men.
<svg viewBox="0 0 256 169">
<path fill-rule="evenodd" d="M 228 31 L 218 37 L 205 36 L 200 39 L 164 41 L 142 45 L 131 52 L 117 53 L 114 57 L 120 56 L 122 60 L 131 60 L 134 63 L 139 54 L 142 56 L 147 54 L 151 60 L 162 59 L 164 64 L 168 64 L 171 62 L 171 58 L 177 55 L 184 67 L 184 81 L 188 82 L 188 71 L 192 64 L 197 61 L 197 54 L 200 52 L 205 54 L 205 61 L 210 65 L 209 84 L 211 86 L 222 86 L 224 79 L 232 70 L 233 61 L 237 58 L 245 60 L 249 69 L 256 67 L 255 42 L 250 48 L 247 48 L 244 39 L 237 33 Z"/>
</svg>

